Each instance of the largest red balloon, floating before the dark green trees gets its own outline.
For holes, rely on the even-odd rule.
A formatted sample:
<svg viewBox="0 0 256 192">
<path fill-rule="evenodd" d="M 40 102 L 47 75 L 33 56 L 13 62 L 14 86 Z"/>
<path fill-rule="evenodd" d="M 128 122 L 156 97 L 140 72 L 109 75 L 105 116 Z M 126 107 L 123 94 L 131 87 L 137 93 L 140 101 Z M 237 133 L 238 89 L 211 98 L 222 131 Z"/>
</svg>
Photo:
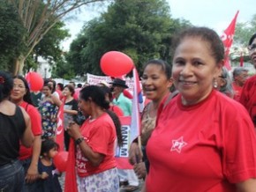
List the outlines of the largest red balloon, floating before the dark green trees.
<svg viewBox="0 0 256 192">
<path fill-rule="evenodd" d="M 110 77 L 119 77 L 129 73 L 134 64 L 128 55 L 118 51 L 109 51 L 102 55 L 101 69 Z"/>
</svg>

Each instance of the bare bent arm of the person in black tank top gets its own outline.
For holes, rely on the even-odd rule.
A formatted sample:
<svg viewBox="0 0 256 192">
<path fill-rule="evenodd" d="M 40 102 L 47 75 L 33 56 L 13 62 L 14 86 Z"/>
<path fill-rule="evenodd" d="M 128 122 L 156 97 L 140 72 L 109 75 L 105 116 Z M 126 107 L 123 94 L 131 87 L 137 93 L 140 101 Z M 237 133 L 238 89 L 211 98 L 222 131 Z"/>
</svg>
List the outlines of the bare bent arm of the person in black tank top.
<svg viewBox="0 0 256 192">
<path fill-rule="evenodd" d="M 21 137 L 21 143 L 26 146 L 26 147 L 31 147 L 34 141 L 34 135 L 31 130 L 31 122 L 30 122 L 30 117 L 28 114 L 26 114 L 26 111 L 24 108 L 20 107 L 22 114 L 24 116 L 24 120 L 26 123 L 26 129 L 23 133 L 23 136 Z"/>
</svg>

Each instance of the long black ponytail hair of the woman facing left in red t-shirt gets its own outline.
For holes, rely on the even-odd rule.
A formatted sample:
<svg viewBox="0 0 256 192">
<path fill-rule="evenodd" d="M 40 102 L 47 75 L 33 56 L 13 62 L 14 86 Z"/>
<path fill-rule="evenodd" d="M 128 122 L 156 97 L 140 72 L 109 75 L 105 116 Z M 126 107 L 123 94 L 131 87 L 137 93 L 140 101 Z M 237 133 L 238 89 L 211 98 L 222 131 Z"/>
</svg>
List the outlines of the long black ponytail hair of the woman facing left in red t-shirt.
<svg viewBox="0 0 256 192">
<path fill-rule="evenodd" d="M 123 137 L 121 132 L 121 122 L 117 117 L 117 114 L 109 111 L 109 102 L 105 100 L 105 93 L 103 92 L 102 87 L 97 85 L 89 85 L 84 87 L 80 91 L 80 99 L 86 101 L 91 99 L 97 106 L 102 107 L 102 109 L 109 114 L 116 127 L 117 144 L 122 145 Z"/>
</svg>

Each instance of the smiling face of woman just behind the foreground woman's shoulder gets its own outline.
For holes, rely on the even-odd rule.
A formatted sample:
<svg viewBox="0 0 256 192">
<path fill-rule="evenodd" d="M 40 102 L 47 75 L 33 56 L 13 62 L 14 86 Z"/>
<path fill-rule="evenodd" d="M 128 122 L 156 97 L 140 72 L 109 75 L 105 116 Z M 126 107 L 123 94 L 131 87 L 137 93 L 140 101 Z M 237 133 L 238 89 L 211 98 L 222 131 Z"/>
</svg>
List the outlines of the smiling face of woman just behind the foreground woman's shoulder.
<svg viewBox="0 0 256 192">
<path fill-rule="evenodd" d="M 143 71 L 141 80 L 143 93 L 149 100 L 162 100 L 164 95 L 169 92 L 172 82 L 167 78 L 162 66 L 149 63 Z"/>
</svg>

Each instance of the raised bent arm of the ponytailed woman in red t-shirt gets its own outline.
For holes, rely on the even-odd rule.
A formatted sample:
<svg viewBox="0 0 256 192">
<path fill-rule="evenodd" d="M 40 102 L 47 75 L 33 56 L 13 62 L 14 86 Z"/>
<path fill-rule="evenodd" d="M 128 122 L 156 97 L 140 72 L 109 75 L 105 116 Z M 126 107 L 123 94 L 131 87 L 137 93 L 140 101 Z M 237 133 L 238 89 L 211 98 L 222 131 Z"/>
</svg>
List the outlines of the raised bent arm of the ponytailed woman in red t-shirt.
<svg viewBox="0 0 256 192">
<path fill-rule="evenodd" d="M 78 141 L 79 138 L 83 138 L 77 123 L 70 123 L 68 133 L 74 139 L 75 143 L 77 143 L 76 141 Z M 102 163 L 104 155 L 98 152 L 94 152 L 84 139 L 81 139 L 79 142 L 79 147 L 85 158 L 87 158 L 93 166 L 99 166 Z"/>
</svg>

